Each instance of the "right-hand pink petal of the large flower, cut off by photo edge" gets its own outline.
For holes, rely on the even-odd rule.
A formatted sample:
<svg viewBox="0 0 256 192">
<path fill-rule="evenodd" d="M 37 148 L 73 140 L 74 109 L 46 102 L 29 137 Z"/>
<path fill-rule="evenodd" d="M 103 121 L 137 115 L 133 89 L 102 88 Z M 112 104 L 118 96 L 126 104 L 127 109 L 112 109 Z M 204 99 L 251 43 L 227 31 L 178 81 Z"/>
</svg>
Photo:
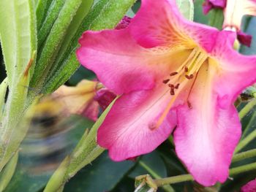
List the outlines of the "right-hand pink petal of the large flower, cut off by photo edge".
<svg viewBox="0 0 256 192">
<path fill-rule="evenodd" d="M 235 39 L 235 33 L 222 31 L 211 53 L 214 59 L 209 59 L 211 65 L 219 65 L 214 90 L 220 107 L 230 106 L 244 88 L 256 82 L 256 56 L 241 55 L 233 50 Z"/>
</svg>

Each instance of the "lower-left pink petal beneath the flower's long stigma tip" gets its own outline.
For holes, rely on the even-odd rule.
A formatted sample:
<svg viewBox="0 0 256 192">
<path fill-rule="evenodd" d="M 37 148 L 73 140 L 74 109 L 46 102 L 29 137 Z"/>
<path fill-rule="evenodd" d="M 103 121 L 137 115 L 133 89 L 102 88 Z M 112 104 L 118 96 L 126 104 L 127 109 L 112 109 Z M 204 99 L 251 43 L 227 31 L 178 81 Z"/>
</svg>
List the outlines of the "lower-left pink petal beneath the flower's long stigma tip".
<svg viewBox="0 0 256 192">
<path fill-rule="evenodd" d="M 170 135 L 176 126 L 175 113 L 169 112 L 156 128 L 171 99 L 169 91 L 163 90 L 132 92 L 121 96 L 113 105 L 99 127 L 97 142 L 109 150 L 114 161 L 150 153 Z"/>
</svg>

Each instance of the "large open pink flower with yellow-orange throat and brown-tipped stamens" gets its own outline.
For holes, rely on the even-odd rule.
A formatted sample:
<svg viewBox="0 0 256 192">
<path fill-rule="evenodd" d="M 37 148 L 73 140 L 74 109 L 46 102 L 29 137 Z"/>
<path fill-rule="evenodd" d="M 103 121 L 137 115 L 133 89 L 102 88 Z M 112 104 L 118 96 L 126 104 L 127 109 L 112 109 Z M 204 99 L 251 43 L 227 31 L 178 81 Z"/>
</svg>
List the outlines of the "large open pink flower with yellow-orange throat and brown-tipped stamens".
<svg viewBox="0 0 256 192">
<path fill-rule="evenodd" d="M 233 50 L 235 39 L 184 19 L 174 0 L 143 0 L 127 28 L 86 31 L 78 60 L 121 95 L 97 135 L 110 158 L 150 153 L 177 126 L 176 153 L 195 180 L 225 182 L 241 135 L 233 102 L 256 81 L 256 57 Z"/>
</svg>

